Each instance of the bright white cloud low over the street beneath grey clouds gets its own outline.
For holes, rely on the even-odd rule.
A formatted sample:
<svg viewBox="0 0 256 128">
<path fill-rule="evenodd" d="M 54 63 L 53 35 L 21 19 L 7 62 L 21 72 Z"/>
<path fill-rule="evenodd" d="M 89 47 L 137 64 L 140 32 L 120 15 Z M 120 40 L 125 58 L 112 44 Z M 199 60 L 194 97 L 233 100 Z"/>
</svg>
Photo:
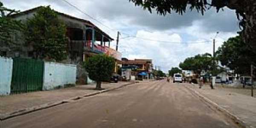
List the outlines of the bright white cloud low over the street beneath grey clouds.
<svg viewBox="0 0 256 128">
<path fill-rule="evenodd" d="M 197 27 L 198 26 L 195 26 L 195 28 Z M 138 30 L 136 35 L 137 37 L 169 42 L 148 41 L 141 38 L 125 39 L 120 40 L 122 46 L 125 46 L 120 50 L 126 49 L 127 52 L 123 55 L 129 59 L 152 58 L 154 60 L 154 64 L 162 67 L 165 72 L 167 72 L 171 67 L 178 66 L 178 64 L 184 61 L 187 57 L 204 54 L 206 52 L 212 54 L 212 39 L 209 37 L 214 35 L 213 33 L 207 35 L 207 33 L 204 32 L 185 32 L 187 35 L 195 36 L 197 40 L 188 40 L 183 42 L 179 33 L 169 34 L 167 32 L 160 31 L 148 32 L 145 30 Z M 200 35 L 207 35 L 205 37 L 209 39 L 201 38 Z M 220 33 L 220 35 L 221 37 L 216 38 L 216 50 L 221 46 L 222 42 L 226 40 L 226 37 L 235 36 L 236 33 L 224 32 Z"/>
</svg>

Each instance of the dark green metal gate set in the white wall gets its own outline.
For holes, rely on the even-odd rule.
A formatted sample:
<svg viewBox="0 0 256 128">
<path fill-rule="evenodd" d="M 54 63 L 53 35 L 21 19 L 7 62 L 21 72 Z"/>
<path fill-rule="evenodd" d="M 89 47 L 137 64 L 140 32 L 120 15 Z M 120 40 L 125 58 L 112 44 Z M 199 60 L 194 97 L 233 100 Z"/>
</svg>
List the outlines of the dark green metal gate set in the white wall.
<svg viewBox="0 0 256 128">
<path fill-rule="evenodd" d="M 14 58 L 11 93 L 27 93 L 43 88 L 44 61 Z"/>
</svg>

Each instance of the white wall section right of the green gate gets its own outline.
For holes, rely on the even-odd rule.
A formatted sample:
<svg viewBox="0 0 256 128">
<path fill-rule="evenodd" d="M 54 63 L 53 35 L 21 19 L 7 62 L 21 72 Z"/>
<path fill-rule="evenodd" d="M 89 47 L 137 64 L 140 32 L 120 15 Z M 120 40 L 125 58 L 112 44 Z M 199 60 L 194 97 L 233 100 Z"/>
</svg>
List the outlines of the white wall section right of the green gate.
<svg viewBox="0 0 256 128">
<path fill-rule="evenodd" d="M 76 84 L 76 65 L 44 63 L 43 90 L 64 87 L 65 84 Z"/>
</svg>

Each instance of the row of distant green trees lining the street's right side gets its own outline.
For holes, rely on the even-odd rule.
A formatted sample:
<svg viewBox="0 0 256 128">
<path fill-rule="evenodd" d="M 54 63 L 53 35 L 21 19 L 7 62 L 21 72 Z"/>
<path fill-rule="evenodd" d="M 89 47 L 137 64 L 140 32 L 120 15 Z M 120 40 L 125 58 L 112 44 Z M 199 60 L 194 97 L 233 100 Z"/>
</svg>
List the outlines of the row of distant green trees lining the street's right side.
<svg viewBox="0 0 256 128">
<path fill-rule="evenodd" d="M 190 70 L 196 77 L 203 72 L 208 76 L 216 76 L 221 72 L 233 71 L 233 73 L 250 76 L 250 65 L 255 64 L 256 54 L 243 42 L 241 36 L 229 38 L 215 52 L 216 58 L 211 54 L 199 54 L 186 58 L 179 64 L 182 70 Z M 178 73 L 178 68 L 172 68 L 169 74 Z"/>
</svg>

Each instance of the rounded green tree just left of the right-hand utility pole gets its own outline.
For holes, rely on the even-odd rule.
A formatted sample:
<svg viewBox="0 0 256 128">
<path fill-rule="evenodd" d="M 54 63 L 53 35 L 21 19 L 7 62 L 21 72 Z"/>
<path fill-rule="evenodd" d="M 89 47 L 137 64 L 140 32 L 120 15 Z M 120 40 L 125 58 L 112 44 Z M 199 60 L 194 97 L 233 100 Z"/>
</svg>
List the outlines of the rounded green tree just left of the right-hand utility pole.
<svg viewBox="0 0 256 128">
<path fill-rule="evenodd" d="M 198 75 L 203 70 L 209 72 L 213 67 L 212 55 L 205 53 L 202 55 L 195 55 L 195 57 L 186 58 L 184 62 L 180 63 L 179 67 L 182 70 L 191 70 Z"/>
</svg>

